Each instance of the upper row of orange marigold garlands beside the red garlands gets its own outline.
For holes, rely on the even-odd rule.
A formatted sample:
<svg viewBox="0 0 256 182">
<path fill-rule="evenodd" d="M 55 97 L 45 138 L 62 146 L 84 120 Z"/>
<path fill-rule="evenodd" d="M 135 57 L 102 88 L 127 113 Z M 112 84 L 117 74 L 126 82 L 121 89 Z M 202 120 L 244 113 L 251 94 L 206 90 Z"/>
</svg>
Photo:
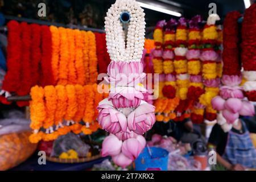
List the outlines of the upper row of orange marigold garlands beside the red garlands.
<svg viewBox="0 0 256 182">
<path fill-rule="evenodd" d="M 52 72 L 58 85 L 97 82 L 96 39 L 91 31 L 50 27 Z"/>
</svg>

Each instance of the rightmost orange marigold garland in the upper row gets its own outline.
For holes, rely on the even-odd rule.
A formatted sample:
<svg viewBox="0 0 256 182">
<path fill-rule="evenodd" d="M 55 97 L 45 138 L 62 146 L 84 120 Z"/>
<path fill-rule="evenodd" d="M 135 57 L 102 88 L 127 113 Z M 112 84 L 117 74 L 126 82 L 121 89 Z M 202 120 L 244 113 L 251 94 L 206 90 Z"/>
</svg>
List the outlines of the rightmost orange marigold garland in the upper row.
<svg viewBox="0 0 256 182">
<path fill-rule="evenodd" d="M 88 47 L 89 47 L 89 72 L 90 72 L 90 81 L 89 84 L 97 83 L 97 55 L 96 55 L 96 39 L 93 32 L 88 31 Z"/>
</svg>

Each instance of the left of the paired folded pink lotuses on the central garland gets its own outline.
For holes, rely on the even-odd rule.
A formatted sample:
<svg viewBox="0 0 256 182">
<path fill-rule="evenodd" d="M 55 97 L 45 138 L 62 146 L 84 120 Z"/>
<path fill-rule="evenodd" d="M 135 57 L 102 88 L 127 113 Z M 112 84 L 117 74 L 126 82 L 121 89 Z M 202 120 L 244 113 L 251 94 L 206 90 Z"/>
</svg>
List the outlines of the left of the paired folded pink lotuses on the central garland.
<svg viewBox="0 0 256 182">
<path fill-rule="evenodd" d="M 115 109 L 112 102 L 108 101 L 107 98 L 100 102 L 97 109 L 100 111 L 98 114 L 98 123 L 102 129 L 113 134 L 127 130 L 126 116 Z"/>
</svg>

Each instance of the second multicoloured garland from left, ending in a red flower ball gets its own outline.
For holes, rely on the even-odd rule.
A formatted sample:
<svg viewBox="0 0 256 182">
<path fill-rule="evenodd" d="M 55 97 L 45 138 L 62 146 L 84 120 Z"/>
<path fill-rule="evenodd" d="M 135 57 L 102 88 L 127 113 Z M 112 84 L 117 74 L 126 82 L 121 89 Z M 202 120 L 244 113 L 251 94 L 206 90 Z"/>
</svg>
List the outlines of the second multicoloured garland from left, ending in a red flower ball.
<svg viewBox="0 0 256 182">
<path fill-rule="evenodd" d="M 163 52 L 163 68 L 166 74 L 165 85 L 163 87 L 163 95 L 167 98 L 175 98 L 176 96 L 176 78 L 174 72 L 174 46 L 175 46 L 175 28 L 177 22 L 170 19 L 166 23 L 166 31 L 164 34 L 164 52 Z"/>
</svg>

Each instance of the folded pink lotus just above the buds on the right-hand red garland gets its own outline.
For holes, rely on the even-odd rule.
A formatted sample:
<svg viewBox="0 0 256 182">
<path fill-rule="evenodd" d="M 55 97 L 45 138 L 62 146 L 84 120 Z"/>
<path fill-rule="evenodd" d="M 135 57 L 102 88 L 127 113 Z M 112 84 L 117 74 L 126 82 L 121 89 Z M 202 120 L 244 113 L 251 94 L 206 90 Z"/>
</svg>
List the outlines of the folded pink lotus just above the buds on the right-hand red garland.
<svg viewBox="0 0 256 182">
<path fill-rule="evenodd" d="M 242 89 L 239 86 L 221 86 L 220 96 L 225 100 L 228 98 L 243 98 Z"/>
</svg>

